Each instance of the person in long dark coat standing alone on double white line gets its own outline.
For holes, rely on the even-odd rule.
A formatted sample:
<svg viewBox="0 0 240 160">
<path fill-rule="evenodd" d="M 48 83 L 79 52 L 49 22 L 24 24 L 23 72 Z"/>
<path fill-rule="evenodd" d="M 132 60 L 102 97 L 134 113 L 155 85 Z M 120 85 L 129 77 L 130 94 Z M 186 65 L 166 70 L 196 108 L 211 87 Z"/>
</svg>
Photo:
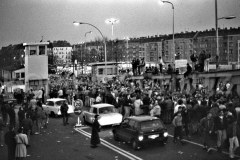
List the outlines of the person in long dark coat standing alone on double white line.
<svg viewBox="0 0 240 160">
<path fill-rule="evenodd" d="M 100 144 L 100 138 L 98 132 L 100 131 L 100 124 L 98 123 L 99 115 L 95 115 L 95 119 L 92 125 L 92 135 L 91 135 L 91 147 L 96 148 Z"/>
</svg>

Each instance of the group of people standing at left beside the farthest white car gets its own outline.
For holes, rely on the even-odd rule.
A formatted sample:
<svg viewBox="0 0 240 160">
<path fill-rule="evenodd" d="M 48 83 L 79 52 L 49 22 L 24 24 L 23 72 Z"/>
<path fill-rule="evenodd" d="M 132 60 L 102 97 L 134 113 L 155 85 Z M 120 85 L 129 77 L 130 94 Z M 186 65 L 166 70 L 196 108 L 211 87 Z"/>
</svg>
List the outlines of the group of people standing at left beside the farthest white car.
<svg viewBox="0 0 240 160">
<path fill-rule="evenodd" d="M 43 128 L 47 128 L 49 113 L 43 110 L 42 99 L 35 99 L 33 96 L 28 100 L 24 98 L 21 100 L 17 113 L 14 110 L 14 103 L 0 105 L 0 147 L 3 147 L 5 142 L 9 160 L 25 158 L 31 142 L 30 137 L 42 134 Z M 4 127 L 9 128 L 5 134 Z"/>
</svg>

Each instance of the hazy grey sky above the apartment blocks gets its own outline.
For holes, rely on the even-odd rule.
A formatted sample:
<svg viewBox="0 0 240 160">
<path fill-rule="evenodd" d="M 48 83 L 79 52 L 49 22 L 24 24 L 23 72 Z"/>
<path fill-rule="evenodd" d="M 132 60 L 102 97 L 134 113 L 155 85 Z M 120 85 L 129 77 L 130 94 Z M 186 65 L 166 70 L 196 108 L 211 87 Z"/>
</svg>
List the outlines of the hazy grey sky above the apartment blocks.
<svg viewBox="0 0 240 160">
<path fill-rule="evenodd" d="M 169 0 L 174 5 L 175 32 L 215 28 L 215 0 Z M 219 27 L 240 26 L 240 0 L 218 0 Z M 118 23 L 106 23 L 115 18 Z M 23 42 L 93 41 L 100 33 L 109 39 L 172 34 L 171 4 L 159 0 L 0 0 L 0 47 Z M 91 34 L 85 33 L 92 31 Z"/>
</svg>

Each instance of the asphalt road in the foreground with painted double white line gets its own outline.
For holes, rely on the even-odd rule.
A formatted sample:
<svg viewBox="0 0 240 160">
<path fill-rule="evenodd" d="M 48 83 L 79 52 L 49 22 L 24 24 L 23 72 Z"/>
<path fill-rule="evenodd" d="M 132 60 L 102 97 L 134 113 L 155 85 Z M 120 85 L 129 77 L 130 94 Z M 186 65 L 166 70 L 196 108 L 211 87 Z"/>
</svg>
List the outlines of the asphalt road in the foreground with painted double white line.
<svg viewBox="0 0 240 160">
<path fill-rule="evenodd" d="M 147 144 L 141 150 L 134 151 L 131 145 L 113 140 L 111 127 L 106 126 L 100 132 L 101 145 L 90 148 L 91 125 L 74 128 L 77 116 L 69 117 L 69 125 L 63 126 L 62 118 L 51 118 L 47 129 L 41 135 L 31 137 L 26 160 L 225 160 L 227 154 L 219 154 L 215 150 L 211 154 L 202 149 L 201 135 L 191 136 L 185 145 L 173 143 L 173 128 L 168 125 L 169 140 L 165 146 Z M 36 130 L 36 128 L 34 128 Z M 7 128 L 4 128 L 4 132 Z M 211 140 L 214 147 L 216 139 Z M 225 149 L 228 152 L 228 149 Z M 7 147 L 0 147 L 0 159 L 7 159 Z"/>
</svg>

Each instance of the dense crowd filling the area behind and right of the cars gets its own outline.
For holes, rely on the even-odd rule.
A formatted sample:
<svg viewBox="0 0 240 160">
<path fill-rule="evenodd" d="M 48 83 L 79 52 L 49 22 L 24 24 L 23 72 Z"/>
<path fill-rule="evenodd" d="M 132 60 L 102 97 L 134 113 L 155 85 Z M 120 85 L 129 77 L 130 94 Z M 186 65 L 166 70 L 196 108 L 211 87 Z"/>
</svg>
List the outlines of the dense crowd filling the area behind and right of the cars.
<svg viewBox="0 0 240 160">
<path fill-rule="evenodd" d="M 204 133 L 204 149 L 211 152 L 214 146 L 209 146 L 209 138 L 215 137 L 218 151 L 222 152 L 226 144 L 232 158 L 238 147 L 236 138 L 240 133 L 232 133 L 233 127 L 238 131 L 240 126 L 240 97 L 236 90 L 227 94 L 222 83 L 212 95 L 203 89 L 196 88 L 192 93 L 171 92 L 164 82 L 144 79 L 140 83 L 127 79 L 108 84 L 82 84 L 73 97 L 75 100 L 81 99 L 85 106 L 112 104 L 124 118 L 132 115 L 158 117 L 165 124 L 174 125 L 174 143 L 178 137 L 182 140 L 183 133 L 186 138 Z M 184 141 L 181 142 L 184 144 Z"/>
</svg>

